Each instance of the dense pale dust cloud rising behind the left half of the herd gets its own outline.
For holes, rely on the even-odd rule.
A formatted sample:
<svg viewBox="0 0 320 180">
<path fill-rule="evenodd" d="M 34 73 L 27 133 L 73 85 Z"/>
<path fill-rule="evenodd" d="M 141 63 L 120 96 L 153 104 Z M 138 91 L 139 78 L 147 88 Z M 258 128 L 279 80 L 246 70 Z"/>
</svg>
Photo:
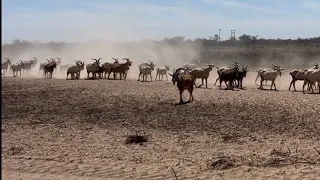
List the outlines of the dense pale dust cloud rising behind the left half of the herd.
<svg viewBox="0 0 320 180">
<path fill-rule="evenodd" d="M 128 79 L 136 79 L 138 77 L 138 65 L 148 60 L 153 61 L 157 67 L 164 67 L 169 65 L 170 71 L 173 68 L 181 67 L 184 63 L 191 63 L 199 59 L 200 46 L 189 45 L 185 43 L 171 45 L 169 43 L 158 43 L 155 41 L 140 41 L 140 42 L 91 42 L 88 44 L 68 45 L 59 51 L 53 50 L 49 47 L 33 48 L 25 52 L 20 52 L 14 55 L 12 62 L 27 61 L 36 57 L 39 62 L 32 69 L 31 72 L 24 72 L 23 77 L 40 78 L 43 76 L 39 72 L 40 63 L 46 62 L 46 59 L 61 57 L 61 65 L 74 65 L 75 60 L 84 61 L 85 65 L 93 63 L 93 58 L 100 58 L 100 62 L 111 62 L 112 58 L 119 58 L 121 63 L 123 58 L 130 58 L 133 62 L 129 72 Z M 125 62 L 125 61 L 123 61 Z M 154 71 L 155 77 L 155 71 Z M 81 78 L 86 78 L 86 71 L 81 72 Z M 66 78 L 66 71 L 60 71 L 59 66 L 55 69 L 54 77 L 58 79 Z"/>
</svg>

